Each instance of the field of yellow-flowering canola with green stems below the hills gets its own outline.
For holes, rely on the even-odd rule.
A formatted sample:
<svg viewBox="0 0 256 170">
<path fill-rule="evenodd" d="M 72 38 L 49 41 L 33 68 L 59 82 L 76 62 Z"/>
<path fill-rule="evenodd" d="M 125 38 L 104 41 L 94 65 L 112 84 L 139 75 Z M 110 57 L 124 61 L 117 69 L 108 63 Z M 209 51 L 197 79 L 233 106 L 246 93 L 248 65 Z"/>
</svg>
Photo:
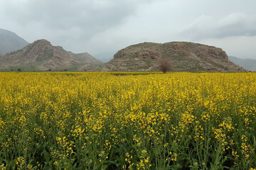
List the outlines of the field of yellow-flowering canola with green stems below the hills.
<svg viewBox="0 0 256 170">
<path fill-rule="evenodd" d="M 0 73 L 0 169 L 256 169 L 256 73 Z"/>
</svg>

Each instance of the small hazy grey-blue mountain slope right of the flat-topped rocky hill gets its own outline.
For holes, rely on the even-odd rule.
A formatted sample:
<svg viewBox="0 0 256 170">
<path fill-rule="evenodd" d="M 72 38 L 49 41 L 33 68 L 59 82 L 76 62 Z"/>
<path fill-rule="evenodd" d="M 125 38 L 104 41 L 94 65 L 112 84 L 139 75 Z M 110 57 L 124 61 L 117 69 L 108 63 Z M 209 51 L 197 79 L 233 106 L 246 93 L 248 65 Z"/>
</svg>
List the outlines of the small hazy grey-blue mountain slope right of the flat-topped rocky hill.
<svg viewBox="0 0 256 170">
<path fill-rule="evenodd" d="M 233 56 L 228 56 L 228 59 L 231 62 L 238 64 L 247 70 L 256 72 L 256 60 L 255 59 L 241 59 L 241 58 L 233 57 Z"/>
</svg>

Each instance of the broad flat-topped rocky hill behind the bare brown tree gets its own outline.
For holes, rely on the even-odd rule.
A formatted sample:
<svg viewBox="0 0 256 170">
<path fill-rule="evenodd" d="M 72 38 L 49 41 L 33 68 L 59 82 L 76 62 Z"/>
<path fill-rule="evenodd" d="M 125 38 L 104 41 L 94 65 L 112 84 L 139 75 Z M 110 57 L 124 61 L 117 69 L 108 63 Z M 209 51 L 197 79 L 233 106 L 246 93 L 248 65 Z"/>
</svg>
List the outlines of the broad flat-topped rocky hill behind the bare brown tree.
<svg viewBox="0 0 256 170">
<path fill-rule="evenodd" d="M 156 71 L 159 57 L 171 60 L 178 72 L 245 72 L 230 62 L 220 48 L 193 42 L 144 42 L 119 50 L 114 59 L 102 65 L 101 71 Z"/>
</svg>

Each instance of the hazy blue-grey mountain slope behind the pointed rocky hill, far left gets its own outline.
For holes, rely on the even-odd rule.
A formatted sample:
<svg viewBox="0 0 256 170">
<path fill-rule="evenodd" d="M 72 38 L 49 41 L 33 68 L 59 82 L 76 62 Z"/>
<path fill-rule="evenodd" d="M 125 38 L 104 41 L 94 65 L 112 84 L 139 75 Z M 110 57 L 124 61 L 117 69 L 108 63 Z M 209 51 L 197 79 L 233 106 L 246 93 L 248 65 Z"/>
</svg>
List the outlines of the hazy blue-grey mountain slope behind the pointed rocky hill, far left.
<svg viewBox="0 0 256 170">
<path fill-rule="evenodd" d="M 20 38 L 9 30 L 3 30 L 0 28 L 0 55 L 20 50 L 26 45 L 28 45 L 28 42 L 23 40 L 23 38 Z"/>
</svg>

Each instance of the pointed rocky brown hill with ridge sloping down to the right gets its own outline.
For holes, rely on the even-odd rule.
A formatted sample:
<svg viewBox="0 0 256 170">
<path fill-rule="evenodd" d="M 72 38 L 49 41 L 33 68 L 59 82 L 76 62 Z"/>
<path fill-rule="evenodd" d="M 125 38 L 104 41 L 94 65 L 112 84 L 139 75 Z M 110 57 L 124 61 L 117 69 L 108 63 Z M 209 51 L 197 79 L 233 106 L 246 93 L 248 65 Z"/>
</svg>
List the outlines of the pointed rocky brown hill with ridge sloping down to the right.
<svg viewBox="0 0 256 170">
<path fill-rule="evenodd" d="M 99 67 L 100 60 L 88 53 L 74 54 L 47 40 L 36 40 L 16 52 L 0 56 L 0 69 L 84 71 Z"/>
</svg>

